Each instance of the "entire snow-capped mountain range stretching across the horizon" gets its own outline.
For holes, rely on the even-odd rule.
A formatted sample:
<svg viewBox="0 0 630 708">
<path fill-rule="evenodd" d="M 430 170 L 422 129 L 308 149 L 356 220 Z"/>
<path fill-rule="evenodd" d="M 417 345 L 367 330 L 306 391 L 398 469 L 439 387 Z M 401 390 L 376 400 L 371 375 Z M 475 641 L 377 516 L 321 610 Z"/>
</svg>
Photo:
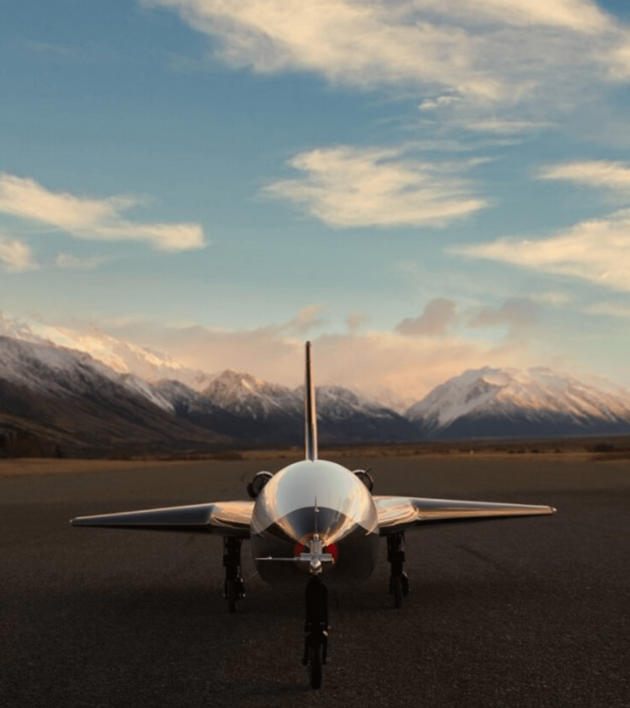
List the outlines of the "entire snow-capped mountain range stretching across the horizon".
<svg viewBox="0 0 630 708">
<path fill-rule="evenodd" d="M 118 367 L 120 369 L 120 367 Z M 154 374 L 176 372 L 159 363 Z M 300 445 L 303 389 L 249 373 L 147 381 L 43 338 L 0 336 L 0 455 L 94 456 Z M 192 383 L 192 381 L 191 381 Z M 324 444 L 630 433 L 630 392 L 537 368 L 485 367 L 404 413 L 340 386 L 317 388 Z"/>
</svg>

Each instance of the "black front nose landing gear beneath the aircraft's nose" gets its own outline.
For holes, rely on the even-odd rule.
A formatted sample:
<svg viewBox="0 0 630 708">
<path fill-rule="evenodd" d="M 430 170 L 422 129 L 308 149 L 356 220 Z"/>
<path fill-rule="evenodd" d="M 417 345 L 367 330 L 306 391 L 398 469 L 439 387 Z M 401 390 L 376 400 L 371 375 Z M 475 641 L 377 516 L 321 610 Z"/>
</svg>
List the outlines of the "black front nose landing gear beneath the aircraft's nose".
<svg viewBox="0 0 630 708">
<path fill-rule="evenodd" d="M 328 649 L 328 590 L 319 575 L 310 576 L 305 593 L 304 656 L 312 688 L 322 685 L 322 666 Z"/>
</svg>

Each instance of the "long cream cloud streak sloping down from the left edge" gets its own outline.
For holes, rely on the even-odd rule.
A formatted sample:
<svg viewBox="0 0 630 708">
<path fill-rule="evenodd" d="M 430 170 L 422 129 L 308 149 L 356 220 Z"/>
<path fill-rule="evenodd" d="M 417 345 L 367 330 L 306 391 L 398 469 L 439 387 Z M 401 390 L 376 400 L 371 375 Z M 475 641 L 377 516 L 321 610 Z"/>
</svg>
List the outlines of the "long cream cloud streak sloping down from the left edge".
<svg viewBox="0 0 630 708">
<path fill-rule="evenodd" d="M 123 212 L 141 203 L 127 196 L 77 197 L 48 190 L 30 178 L 0 174 L 0 213 L 43 223 L 78 239 L 146 241 L 162 251 L 204 246 L 200 224 L 146 224 L 123 218 Z"/>
</svg>

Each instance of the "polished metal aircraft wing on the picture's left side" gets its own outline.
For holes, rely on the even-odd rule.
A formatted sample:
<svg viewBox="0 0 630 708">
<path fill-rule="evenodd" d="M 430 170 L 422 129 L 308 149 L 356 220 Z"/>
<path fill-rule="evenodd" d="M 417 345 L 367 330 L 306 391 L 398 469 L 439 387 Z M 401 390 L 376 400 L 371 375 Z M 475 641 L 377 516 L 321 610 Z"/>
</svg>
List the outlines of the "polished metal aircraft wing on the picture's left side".
<svg viewBox="0 0 630 708">
<path fill-rule="evenodd" d="M 117 514 L 78 516 L 70 523 L 73 526 L 215 533 L 249 538 L 253 509 L 253 501 L 216 501 L 193 506 L 167 506 Z"/>
</svg>

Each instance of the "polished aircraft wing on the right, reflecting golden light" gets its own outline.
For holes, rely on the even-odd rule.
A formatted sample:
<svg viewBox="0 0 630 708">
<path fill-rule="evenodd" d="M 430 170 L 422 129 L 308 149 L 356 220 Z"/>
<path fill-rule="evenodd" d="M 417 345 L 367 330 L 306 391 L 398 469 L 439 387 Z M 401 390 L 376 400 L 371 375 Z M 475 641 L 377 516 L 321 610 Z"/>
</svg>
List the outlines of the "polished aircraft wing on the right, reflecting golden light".
<svg viewBox="0 0 630 708">
<path fill-rule="evenodd" d="M 556 513 L 552 506 L 529 504 L 425 499 L 417 496 L 375 496 L 373 499 L 381 536 L 424 524 Z"/>
</svg>

